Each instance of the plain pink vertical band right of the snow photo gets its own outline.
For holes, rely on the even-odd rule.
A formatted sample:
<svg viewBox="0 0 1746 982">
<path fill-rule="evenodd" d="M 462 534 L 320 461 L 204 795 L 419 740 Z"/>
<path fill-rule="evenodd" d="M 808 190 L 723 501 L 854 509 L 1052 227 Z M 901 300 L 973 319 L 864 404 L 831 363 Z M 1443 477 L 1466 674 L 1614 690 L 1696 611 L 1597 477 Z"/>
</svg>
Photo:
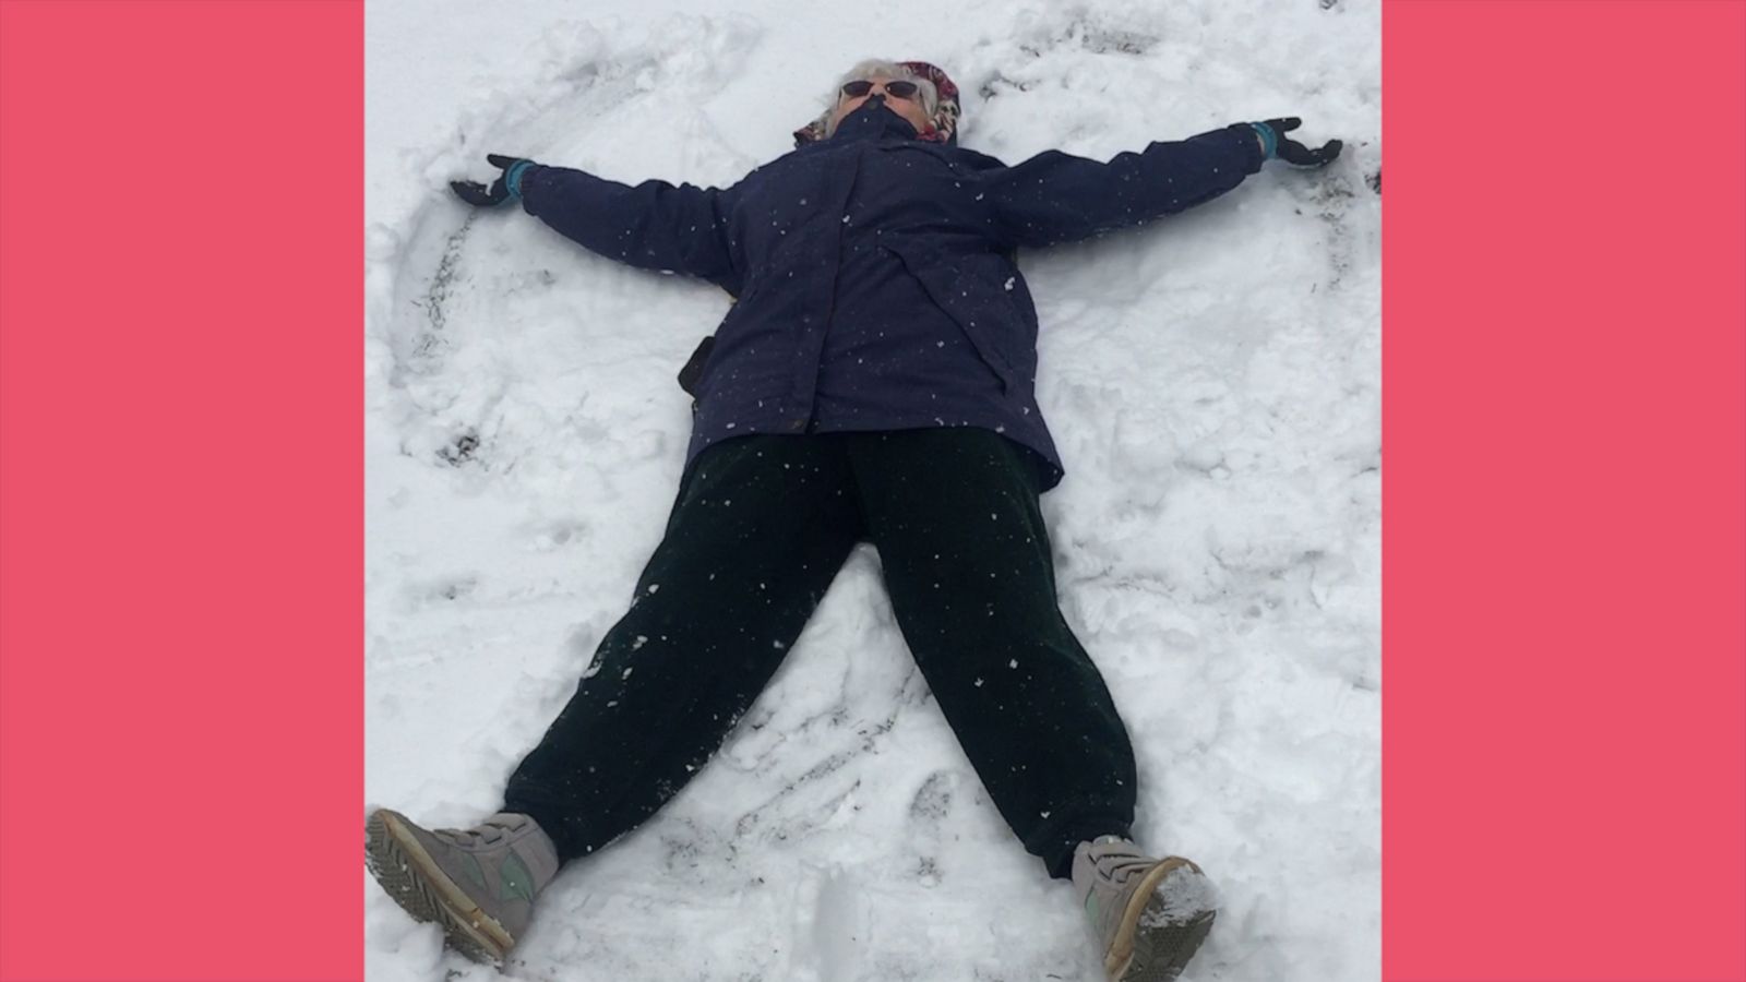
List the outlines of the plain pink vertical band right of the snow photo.
<svg viewBox="0 0 1746 982">
<path fill-rule="evenodd" d="M 1746 3 L 1383 35 L 1383 975 L 1737 982 Z"/>
</svg>

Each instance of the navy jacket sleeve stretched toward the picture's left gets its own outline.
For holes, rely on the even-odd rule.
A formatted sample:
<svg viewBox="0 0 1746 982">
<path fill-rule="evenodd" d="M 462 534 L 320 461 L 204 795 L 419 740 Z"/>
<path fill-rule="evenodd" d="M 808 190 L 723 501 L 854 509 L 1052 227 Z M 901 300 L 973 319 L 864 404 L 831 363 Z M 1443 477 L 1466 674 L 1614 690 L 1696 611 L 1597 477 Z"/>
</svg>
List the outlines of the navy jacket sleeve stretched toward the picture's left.
<svg viewBox="0 0 1746 982">
<path fill-rule="evenodd" d="M 739 246 L 728 229 L 733 189 L 646 180 L 636 187 L 573 168 L 522 175 L 522 208 L 592 252 L 641 269 L 688 273 L 739 295 Z"/>
</svg>

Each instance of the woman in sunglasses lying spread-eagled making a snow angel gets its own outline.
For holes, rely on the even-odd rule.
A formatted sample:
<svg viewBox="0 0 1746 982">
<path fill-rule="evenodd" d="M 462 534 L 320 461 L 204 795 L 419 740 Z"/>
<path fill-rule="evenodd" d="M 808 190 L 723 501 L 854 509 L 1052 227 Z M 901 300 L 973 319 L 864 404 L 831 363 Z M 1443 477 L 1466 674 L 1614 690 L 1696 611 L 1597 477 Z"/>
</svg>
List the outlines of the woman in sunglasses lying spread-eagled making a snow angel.
<svg viewBox="0 0 1746 982">
<path fill-rule="evenodd" d="M 1213 921 L 1194 863 L 1130 840 L 1133 748 L 1056 606 L 1039 494 L 1062 465 L 1037 409 L 1021 246 L 1182 211 L 1271 157 L 1320 166 L 1296 119 L 1103 164 L 1006 166 L 957 145 L 957 87 L 866 61 L 798 149 L 725 190 L 491 156 L 477 206 L 520 199 L 583 246 L 737 302 L 686 365 L 695 425 L 667 533 L 574 697 L 468 830 L 393 811 L 370 870 L 461 952 L 499 961 L 559 867 L 650 818 L 704 765 L 861 540 L 1000 814 L 1070 879 L 1116 980 L 1173 979 Z"/>
</svg>

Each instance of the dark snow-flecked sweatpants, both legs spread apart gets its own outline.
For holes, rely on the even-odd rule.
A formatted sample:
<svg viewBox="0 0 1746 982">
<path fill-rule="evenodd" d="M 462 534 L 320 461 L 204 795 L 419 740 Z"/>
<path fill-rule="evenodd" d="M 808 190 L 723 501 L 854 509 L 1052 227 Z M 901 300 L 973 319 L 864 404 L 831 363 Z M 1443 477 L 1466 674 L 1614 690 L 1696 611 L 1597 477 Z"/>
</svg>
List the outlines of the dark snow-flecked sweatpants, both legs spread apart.
<svg viewBox="0 0 1746 982">
<path fill-rule="evenodd" d="M 1028 451 L 990 430 L 742 437 L 704 451 L 629 613 L 529 753 L 505 811 L 564 860 L 665 804 L 770 681 L 856 542 L 995 807 L 1051 875 L 1126 835 L 1135 765 L 1062 619 Z M 1016 667 L 1013 667 L 1016 662 Z"/>
</svg>

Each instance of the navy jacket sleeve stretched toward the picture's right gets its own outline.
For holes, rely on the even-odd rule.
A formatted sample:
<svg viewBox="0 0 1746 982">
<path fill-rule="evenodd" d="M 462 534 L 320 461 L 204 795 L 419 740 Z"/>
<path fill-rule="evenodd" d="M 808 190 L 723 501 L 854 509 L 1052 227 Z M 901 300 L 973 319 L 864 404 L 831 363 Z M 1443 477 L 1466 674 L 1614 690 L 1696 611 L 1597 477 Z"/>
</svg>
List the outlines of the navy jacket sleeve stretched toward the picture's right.
<svg viewBox="0 0 1746 982">
<path fill-rule="evenodd" d="M 1007 246 L 1044 246 L 1140 225 L 1212 201 L 1266 157 L 1247 122 L 1151 143 L 1107 164 L 1048 150 L 986 171 L 995 225 Z"/>
</svg>

